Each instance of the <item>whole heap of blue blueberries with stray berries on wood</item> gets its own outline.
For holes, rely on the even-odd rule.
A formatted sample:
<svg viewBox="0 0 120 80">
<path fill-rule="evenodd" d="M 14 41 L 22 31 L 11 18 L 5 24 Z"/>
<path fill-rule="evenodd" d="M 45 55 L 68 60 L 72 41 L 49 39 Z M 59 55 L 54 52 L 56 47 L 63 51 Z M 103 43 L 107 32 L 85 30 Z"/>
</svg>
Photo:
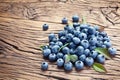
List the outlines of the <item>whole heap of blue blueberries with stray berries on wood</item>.
<svg viewBox="0 0 120 80">
<path fill-rule="evenodd" d="M 77 70 L 84 66 L 91 67 L 94 62 L 103 64 L 106 60 L 103 54 L 95 51 L 95 48 L 107 48 L 111 56 L 116 54 L 116 49 L 112 47 L 107 33 L 100 31 L 98 26 L 79 23 L 79 16 L 72 17 L 72 25 L 68 24 L 68 19 L 63 18 L 62 24 L 66 24 L 64 30 L 59 31 L 58 35 L 49 34 L 49 45 L 42 49 L 43 57 L 51 62 L 56 62 L 58 67 L 71 71 L 73 66 Z M 47 24 L 44 25 L 46 30 Z M 44 28 L 43 26 L 43 28 Z M 68 55 L 75 59 L 65 61 Z M 48 63 L 42 62 L 42 70 L 48 69 Z"/>
</svg>

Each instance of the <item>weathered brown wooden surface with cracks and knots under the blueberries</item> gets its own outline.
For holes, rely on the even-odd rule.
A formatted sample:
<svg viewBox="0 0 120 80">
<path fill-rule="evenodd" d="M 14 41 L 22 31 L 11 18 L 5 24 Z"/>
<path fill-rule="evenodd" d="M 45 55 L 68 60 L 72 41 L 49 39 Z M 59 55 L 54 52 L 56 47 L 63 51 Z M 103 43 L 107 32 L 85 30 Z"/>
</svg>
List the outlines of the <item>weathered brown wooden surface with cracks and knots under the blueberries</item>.
<svg viewBox="0 0 120 80">
<path fill-rule="evenodd" d="M 62 30 L 62 17 L 78 14 L 90 24 L 105 27 L 117 55 L 105 62 L 108 73 L 92 68 L 65 73 L 49 63 L 41 71 L 39 46 L 48 34 Z M 42 31 L 42 25 L 50 25 Z M 0 0 L 0 80 L 120 80 L 120 0 Z"/>
</svg>

